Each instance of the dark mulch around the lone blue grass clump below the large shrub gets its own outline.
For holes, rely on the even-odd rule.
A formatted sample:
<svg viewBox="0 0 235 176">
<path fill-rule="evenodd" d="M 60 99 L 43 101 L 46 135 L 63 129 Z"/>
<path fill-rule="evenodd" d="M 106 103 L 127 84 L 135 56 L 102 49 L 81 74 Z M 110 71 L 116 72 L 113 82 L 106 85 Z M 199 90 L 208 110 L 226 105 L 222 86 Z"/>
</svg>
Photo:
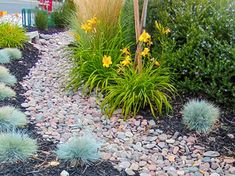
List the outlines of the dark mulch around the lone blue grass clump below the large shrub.
<svg viewBox="0 0 235 176">
<path fill-rule="evenodd" d="M 225 156 L 235 156 L 235 139 L 231 138 L 231 134 L 235 137 L 235 114 L 232 108 L 218 105 L 221 110 L 220 122 L 215 125 L 215 128 L 209 134 L 197 134 L 190 131 L 182 124 L 182 114 L 180 113 L 183 105 L 190 99 L 208 99 L 202 94 L 180 93 L 180 96 L 172 102 L 173 114 L 168 117 L 156 119 L 157 128 L 164 130 L 169 134 L 174 134 L 178 131 L 181 135 L 192 135 L 198 137 L 198 144 L 204 146 L 208 150 L 218 151 Z M 213 102 L 213 100 L 209 101 Z M 147 119 L 152 119 L 149 110 L 144 110 L 141 113 Z"/>
</svg>

